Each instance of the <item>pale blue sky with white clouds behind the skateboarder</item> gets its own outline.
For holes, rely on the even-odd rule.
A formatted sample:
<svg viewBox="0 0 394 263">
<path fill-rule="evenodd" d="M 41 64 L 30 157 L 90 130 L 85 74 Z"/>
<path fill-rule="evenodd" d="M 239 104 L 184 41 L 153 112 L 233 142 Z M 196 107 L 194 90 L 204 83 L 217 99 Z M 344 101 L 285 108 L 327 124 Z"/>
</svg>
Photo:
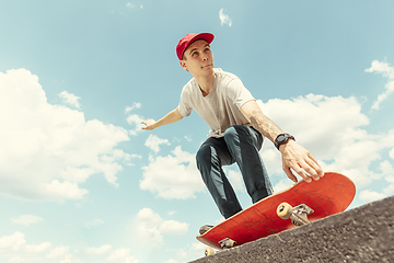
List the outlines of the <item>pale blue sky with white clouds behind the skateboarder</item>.
<svg viewBox="0 0 394 263">
<path fill-rule="evenodd" d="M 222 220 L 195 167 L 196 113 L 140 129 L 192 78 L 178 39 L 211 32 L 215 66 L 325 171 L 351 207 L 394 193 L 393 1 L 0 2 L 0 261 L 179 263 Z M 280 155 L 262 157 L 276 191 Z M 235 165 L 225 168 L 244 207 Z"/>
</svg>

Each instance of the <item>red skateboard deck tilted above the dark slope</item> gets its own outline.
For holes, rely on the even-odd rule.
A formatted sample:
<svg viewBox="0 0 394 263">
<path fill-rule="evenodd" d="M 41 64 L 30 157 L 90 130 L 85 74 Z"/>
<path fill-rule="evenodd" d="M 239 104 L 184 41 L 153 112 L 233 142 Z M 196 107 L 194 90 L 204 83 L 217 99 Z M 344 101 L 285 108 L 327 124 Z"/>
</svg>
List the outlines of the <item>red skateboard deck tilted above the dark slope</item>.
<svg viewBox="0 0 394 263">
<path fill-rule="evenodd" d="M 291 219 L 285 220 L 277 214 L 278 206 L 283 202 L 291 206 L 305 204 L 313 209 L 308 219 L 314 221 L 344 211 L 355 195 L 356 186 L 350 179 L 326 172 L 318 181 L 300 181 L 288 190 L 260 199 L 197 236 L 197 240 L 218 250 L 222 249 L 219 242 L 225 239 L 235 241 L 233 247 L 241 245 L 296 227 Z"/>
</svg>

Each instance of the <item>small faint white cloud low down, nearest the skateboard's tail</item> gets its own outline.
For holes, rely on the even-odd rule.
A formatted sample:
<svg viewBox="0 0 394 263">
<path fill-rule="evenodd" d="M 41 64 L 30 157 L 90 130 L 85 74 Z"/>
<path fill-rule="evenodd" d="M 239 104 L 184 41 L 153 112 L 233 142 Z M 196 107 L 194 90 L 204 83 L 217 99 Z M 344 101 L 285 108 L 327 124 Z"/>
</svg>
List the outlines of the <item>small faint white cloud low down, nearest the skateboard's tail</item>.
<svg viewBox="0 0 394 263">
<path fill-rule="evenodd" d="M 137 228 L 142 241 L 154 247 L 163 243 L 163 235 L 184 235 L 188 227 L 186 222 L 164 220 L 150 208 L 142 208 L 137 214 Z"/>
</svg>

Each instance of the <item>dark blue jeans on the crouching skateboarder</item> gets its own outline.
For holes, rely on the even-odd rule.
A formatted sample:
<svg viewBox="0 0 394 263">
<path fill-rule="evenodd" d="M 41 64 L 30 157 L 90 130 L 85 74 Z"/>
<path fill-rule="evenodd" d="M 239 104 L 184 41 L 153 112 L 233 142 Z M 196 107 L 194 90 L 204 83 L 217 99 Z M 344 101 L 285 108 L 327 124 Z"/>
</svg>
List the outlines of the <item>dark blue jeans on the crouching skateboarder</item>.
<svg viewBox="0 0 394 263">
<path fill-rule="evenodd" d="M 242 207 L 222 165 L 236 162 L 253 203 L 274 193 L 258 153 L 262 145 L 263 136 L 256 129 L 234 125 L 224 132 L 224 137 L 210 137 L 199 148 L 196 155 L 197 168 L 224 218 L 241 211 Z"/>
</svg>

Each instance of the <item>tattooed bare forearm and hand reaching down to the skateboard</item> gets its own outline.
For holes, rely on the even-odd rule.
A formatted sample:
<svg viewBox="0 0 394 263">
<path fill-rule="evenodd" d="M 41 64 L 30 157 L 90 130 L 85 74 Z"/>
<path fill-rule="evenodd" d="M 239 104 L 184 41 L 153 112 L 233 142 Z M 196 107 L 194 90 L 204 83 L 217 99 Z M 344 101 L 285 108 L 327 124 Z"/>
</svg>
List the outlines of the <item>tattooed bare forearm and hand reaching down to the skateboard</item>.
<svg viewBox="0 0 394 263">
<path fill-rule="evenodd" d="M 246 102 L 241 107 L 241 112 L 255 129 L 273 142 L 278 135 L 283 133 L 273 121 L 263 114 L 256 101 Z M 294 140 L 289 139 L 287 144 L 279 146 L 279 151 L 282 156 L 282 169 L 293 182 L 297 182 L 297 178 L 292 174 L 291 169 L 306 182 L 311 182 L 311 178 L 318 180 L 324 175 L 322 168 L 311 152 Z"/>
</svg>

